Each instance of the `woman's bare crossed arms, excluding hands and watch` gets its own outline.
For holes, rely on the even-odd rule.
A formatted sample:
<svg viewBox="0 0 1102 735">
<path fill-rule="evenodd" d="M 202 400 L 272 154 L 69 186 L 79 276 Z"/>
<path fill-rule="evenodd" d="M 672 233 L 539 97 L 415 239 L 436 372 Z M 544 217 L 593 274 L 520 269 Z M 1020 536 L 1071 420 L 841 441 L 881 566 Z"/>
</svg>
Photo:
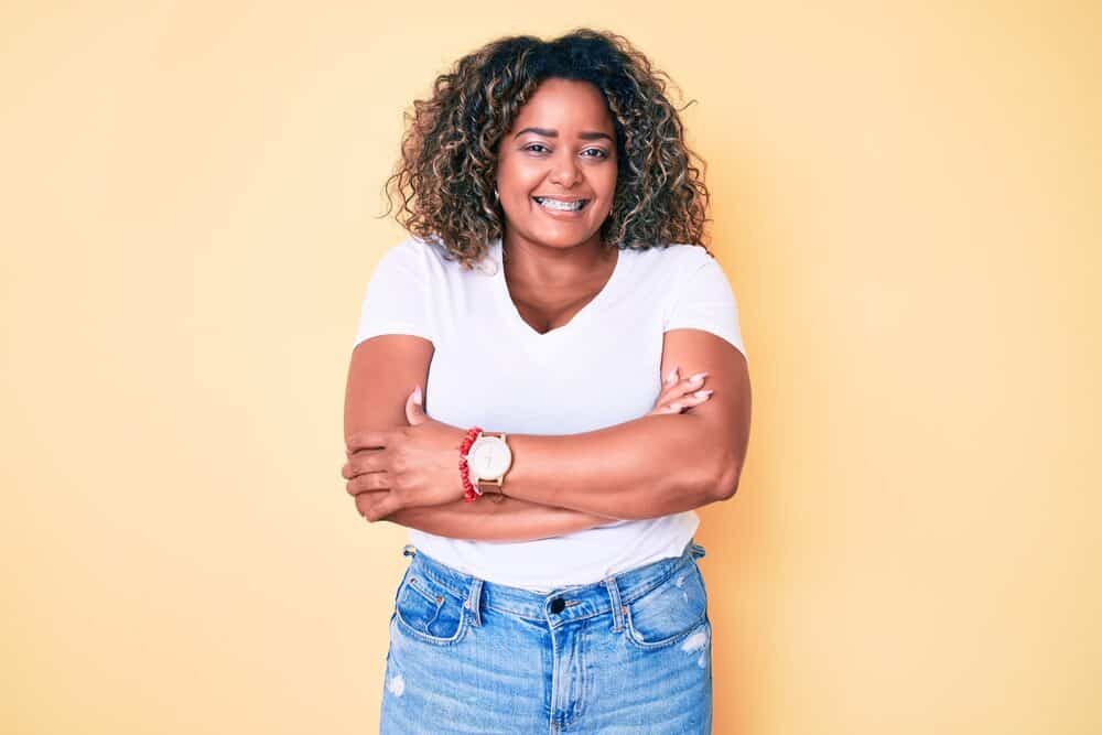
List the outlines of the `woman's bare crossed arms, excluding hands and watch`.
<svg viewBox="0 0 1102 735">
<path fill-rule="evenodd" d="M 432 354 L 431 342 L 402 334 L 356 346 L 345 393 L 346 443 L 357 432 L 407 425 L 407 398 L 412 386 L 425 385 Z M 749 439 L 746 360 L 710 332 L 684 328 L 666 333 L 661 374 L 674 366 L 682 376 L 706 371 L 711 398 L 685 413 L 648 414 L 579 434 L 510 433 L 514 464 L 501 502 L 402 508 L 383 520 L 450 538 L 526 541 L 732 497 Z"/>
</svg>

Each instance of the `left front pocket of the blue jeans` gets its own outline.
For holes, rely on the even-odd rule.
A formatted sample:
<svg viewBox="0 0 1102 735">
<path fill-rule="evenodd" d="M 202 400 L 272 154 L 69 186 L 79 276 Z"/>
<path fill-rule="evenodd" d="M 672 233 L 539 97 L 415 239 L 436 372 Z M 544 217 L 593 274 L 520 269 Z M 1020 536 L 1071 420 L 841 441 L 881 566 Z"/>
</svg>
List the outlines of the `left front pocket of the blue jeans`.
<svg viewBox="0 0 1102 735">
<path fill-rule="evenodd" d="M 406 635 L 426 644 L 456 644 L 467 630 L 464 602 L 451 588 L 410 564 L 395 596 L 395 623 Z"/>
</svg>

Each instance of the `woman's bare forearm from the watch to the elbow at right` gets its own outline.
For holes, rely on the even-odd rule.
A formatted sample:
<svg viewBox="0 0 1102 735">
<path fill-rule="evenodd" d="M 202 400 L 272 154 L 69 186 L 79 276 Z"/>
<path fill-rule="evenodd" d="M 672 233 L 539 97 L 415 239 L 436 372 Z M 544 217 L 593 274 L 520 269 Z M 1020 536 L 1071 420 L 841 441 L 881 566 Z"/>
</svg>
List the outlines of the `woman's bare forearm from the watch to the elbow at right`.
<svg viewBox="0 0 1102 735">
<path fill-rule="evenodd" d="M 693 414 L 650 414 L 568 435 L 508 434 L 515 498 L 620 519 L 657 518 L 724 497 L 731 448 Z"/>
</svg>

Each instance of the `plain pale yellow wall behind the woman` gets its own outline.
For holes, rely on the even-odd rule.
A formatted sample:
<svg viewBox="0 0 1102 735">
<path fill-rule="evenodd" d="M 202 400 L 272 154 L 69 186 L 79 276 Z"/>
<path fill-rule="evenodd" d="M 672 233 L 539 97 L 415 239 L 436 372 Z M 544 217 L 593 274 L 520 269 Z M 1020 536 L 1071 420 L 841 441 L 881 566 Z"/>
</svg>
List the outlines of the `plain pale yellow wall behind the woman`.
<svg viewBox="0 0 1102 735">
<path fill-rule="evenodd" d="M 1102 732 L 1090 4 L 4 3 L 0 731 L 376 732 L 406 531 L 342 401 L 401 112 L 593 25 L 696 100 L 753 359 L 714 732 Z"/>
</svg>

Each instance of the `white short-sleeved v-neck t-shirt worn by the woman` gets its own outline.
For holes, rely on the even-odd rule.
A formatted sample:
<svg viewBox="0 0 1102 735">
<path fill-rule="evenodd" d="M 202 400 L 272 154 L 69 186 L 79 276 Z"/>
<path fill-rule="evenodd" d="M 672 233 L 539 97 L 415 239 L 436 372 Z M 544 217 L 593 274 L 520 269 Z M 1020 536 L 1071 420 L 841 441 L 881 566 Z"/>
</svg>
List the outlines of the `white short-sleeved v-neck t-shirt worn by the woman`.
<svg viewBox="0 0 1102 735">
<path fill-rule="evenodd" d="M 521 318 L 509 296 L 500 238 L 474 270 L 445 252 L 420 238 L 390 247 L 367 284 L 355 342 L 380 334 L 430 339 L 424 410 L 437 421 L 506 434 L 594 431 L 651 411 L 661 392 L 666 331 L 706 329 L 745 354 L 734 292 L 701 247 L 620 249 L 605 288 L 545 334 Z M 466 574 L 548 593 L 678 556 L 698 526 L 700 517 L 688 510 L 523 542 L 417 529 L 409 539 Z"/>
</svg>

